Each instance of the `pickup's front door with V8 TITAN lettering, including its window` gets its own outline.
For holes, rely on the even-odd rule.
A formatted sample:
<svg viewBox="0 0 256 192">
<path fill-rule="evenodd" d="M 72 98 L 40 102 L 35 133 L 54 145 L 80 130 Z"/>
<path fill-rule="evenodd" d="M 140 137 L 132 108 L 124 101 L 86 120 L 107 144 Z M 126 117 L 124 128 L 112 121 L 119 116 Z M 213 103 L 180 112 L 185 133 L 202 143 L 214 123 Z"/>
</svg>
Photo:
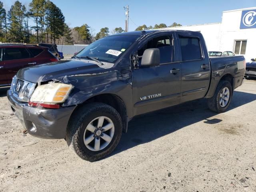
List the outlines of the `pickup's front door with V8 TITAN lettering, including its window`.
<svg viewBox="0 0 256 192">
<path fill-rule="evenodd" d="M 149 38 L 138 46 L 138 68 L 132 70 L 134 116 L 180 103 L 181 67 L 173 32 Z M 160 65 L 140 66 L 144 50 L 158 48 Z"/>
</svg>

